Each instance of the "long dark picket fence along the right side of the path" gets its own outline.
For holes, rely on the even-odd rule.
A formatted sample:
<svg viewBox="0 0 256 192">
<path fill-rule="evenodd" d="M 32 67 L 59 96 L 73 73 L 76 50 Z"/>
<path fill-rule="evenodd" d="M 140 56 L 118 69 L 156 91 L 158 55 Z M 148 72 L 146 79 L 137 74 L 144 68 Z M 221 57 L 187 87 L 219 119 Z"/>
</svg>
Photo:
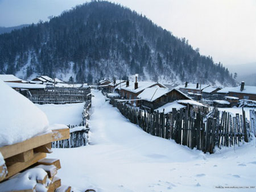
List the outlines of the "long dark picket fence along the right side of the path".
<svg viewBox="0 0 256 192">
<path fill-rule="evenodd" d="M 110 103 L 147 133 L 173 139 L 177 144 L 187 145 L 204 153 L 213 153 L 214 147 L 240 146 L 243 142 L 250 141 L 251 126 L 245 117 L 245 111 L 242 111 L 242 115 L 232 116 L 229 112 L 220 112 L 214 108 L 210 114 L 204 115 L 198 108 L 195 110 L 187 106 L 179 111 L 173 108 L 171 113 L 164 114 L 158 111 L 150 113 L 114 99 L 110 99 Z M 255 128 L 256 112 L 251 114 L 254 115 Z"/>
</svg>

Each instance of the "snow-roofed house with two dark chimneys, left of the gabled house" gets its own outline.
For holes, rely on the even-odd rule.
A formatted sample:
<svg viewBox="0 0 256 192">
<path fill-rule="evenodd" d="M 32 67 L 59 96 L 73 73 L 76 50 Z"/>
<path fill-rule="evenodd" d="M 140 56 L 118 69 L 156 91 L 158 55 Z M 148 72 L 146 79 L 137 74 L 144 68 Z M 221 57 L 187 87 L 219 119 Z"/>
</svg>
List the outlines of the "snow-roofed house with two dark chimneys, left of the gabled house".
<svg viewBox="0 0 256 192">
<path fill-rule="evenodd" d="M 122 98 L 129 99 L 129 100 L 137 100 L 137 96 L 142 93 L 142 91 L 148 87 L 156 86 L 158 85 L 159 87 L 165 87 L 162 84 L 159 84 L 158 82 L 146 82 L 146 81 L 137 81 L 134 82 L 134 84 L 130 85 L 130 82 L 127 81 L 127 84 L 125 87 L 121 88 L 120 94 Z M 134 101 L 131 101 L 133 104 Z M 136 106 L 138 106 L 138 101 L 135 102 Z"/>
</svg>

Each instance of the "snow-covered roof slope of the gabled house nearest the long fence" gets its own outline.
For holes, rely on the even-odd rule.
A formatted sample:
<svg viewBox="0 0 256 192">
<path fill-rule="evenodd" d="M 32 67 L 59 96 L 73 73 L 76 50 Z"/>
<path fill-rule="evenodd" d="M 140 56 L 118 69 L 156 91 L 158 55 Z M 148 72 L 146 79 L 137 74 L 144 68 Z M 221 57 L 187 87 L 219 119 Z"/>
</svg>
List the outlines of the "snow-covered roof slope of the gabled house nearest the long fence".
<svg viewBox="0 0 256 192">
<path fill-rule="evenodd" d="M 158 85 L 153 87 L 148 87 L 138 95 L 139 99 L 145 101 L 155 101 L 159 97 L 162 97 L 164 94 L 167 94 L 170 90 L 165 87 L 159 87 Z"/>
</svg>

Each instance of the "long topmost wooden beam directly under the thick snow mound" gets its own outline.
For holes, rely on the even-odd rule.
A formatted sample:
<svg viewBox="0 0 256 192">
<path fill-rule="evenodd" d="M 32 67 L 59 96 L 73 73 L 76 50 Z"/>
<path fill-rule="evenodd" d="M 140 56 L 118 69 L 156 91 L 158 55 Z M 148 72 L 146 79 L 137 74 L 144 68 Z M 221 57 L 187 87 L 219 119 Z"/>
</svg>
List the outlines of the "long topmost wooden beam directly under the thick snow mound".
<svg viewBox="0 0 256 192">
<path fill-rule="evenodd" d="M 51 143 L 52 141 L 69 139 L 69 137 L 69 128 L 52 130 L 52 133 L 35 136 L 20 143 L 1 147 L 0 152 L 3 155 L 3 158 L 8 158 L 26 152 L 30 149 Z"/>
</svg>

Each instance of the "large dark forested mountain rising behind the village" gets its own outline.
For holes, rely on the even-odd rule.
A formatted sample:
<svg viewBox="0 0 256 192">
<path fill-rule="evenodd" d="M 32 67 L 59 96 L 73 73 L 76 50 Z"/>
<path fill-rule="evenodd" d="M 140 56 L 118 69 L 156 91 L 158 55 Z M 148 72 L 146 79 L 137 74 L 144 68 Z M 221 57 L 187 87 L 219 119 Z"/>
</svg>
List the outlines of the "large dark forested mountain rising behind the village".
<svg viewBox="0 0 256 192">
<path fill-rule="evenodd" d="M 44 74 L 78 82 L 101 77 L 234 84 L 232 74 L 188 41 L 126 7 L 93 1 L 0 35 L 0 73 Z"/>
</svg>

